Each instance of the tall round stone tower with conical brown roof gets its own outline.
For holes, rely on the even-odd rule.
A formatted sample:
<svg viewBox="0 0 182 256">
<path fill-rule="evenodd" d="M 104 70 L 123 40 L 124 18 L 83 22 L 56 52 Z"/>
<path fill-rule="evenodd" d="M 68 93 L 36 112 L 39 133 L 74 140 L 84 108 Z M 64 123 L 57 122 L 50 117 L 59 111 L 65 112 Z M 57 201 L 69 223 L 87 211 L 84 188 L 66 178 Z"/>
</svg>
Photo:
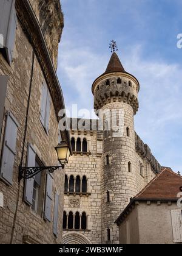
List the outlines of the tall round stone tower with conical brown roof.
<svg viewBox="0 0 182 256">
<path fill-rule="evenodd" d="M 92 85 L 94 108 L 105 113 L 101 159 L 102 243 L 118 243 L 118 227 L 114 222 L 138 191 L 134 115 L 138 110 L 139 89 L 138 80 L 124 70 L 115 52 L 105 73 Z"/>
</svg>

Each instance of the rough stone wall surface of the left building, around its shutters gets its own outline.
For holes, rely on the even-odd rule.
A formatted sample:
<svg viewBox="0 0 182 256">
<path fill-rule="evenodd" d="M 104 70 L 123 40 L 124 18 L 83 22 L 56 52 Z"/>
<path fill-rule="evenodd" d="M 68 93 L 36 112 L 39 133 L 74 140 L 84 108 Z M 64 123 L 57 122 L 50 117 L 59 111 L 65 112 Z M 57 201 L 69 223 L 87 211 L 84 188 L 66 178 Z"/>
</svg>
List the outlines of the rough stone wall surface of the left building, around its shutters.
<svg viewBox="0 0 182 256">
<path fill-rule="evenodd" d="M 15 218 L 16 204 L 18 202 L 17 218 L 15 222 L 15 233 L 13 243 L 22 243 L 24 235 L 29 235 L 39 243 L 60 243 L 62 241 L 62 207 L 64 172 L 55 171 L 53 174 L 53 201 L 52 201 L 52 221 L 44 221 L 42 216 L 37 215 L 23 199 L 24 181 L 18 183 L 18 166 L 21 160 L 22 143 L 25 126 L 25 112 L 27 109 L 27 99 L 30 86 L 30 73 L 32 68 L 33 48 L 25 36 L 20 24 L 16 30 L 15 54 L 13 63 L 9 66 L 0 55 L 0 74 L 8 76 L 7 95 L 5 98 L 5 112 L 10 112 L 19 123 L 16 141 L 16 156 L 13 171 L 13 185 L 7 185 L 0 180 L 0 191 L 4 194 L 4 207 L 0 207 L 0 243 L 10 243 L 13 220 Z M 36 148 L 36 154 L 46 166 L 58 165 L 55 146 L 58 143 L 58 119 L 56 118 L 53 99 L 50 104 L 50 130 L 49 135 L 45 133 L 39 120 L 41 104 L 41 85 L 44 80 L 41 66 L 35 57 L 33 69 L 32 92 L 30 97 L 30 108 L 28 117 L 27 136 L 25 139 L 25 152 L 23 164 L 26 165 L 27 144 L 32 143 Z M 1 133 L 0 154 L 2 151 L 2 141 L 4 138 L 5 116 Z M 44 182 L 45 184 L 45 182 Z M 18 196 L 18 188 L 20 193 Z M 55 191 L 59 194 L 59 219 L 58 238 L 53 235 L 53 207 Z"/>
</svg>

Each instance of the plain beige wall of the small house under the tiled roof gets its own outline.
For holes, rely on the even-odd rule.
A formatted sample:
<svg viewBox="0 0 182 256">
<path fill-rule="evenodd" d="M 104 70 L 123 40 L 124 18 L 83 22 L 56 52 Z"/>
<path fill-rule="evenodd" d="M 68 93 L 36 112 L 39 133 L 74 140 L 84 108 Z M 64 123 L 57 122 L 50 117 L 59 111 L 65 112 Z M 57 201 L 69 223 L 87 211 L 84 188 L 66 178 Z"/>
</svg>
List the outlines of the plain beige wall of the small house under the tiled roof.
<svg viewBox="0 0 182 256">
<path fill-rule="evenodd" d="M 179 209 L 176 202 L 136 202 L 135 208 L 119 226 L 120 243 L 174 243 L 170 213 L 174 209 Z"/>
</svg>

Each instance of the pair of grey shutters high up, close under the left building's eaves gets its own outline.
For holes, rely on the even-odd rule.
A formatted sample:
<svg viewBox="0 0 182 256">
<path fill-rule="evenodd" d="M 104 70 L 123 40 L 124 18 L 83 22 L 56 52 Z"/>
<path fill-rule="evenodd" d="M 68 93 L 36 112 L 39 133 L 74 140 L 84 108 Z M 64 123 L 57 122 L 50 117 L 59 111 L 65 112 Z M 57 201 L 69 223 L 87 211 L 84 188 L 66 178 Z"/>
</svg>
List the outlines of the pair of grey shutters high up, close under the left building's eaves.
<svg viewBox="0 0 182 256">
<path fill-rule="evenodd" d="M 45 132 L 49 133 L 50 94 L 45 82 L 42 83 L 40 120 Z"/>
</svg>

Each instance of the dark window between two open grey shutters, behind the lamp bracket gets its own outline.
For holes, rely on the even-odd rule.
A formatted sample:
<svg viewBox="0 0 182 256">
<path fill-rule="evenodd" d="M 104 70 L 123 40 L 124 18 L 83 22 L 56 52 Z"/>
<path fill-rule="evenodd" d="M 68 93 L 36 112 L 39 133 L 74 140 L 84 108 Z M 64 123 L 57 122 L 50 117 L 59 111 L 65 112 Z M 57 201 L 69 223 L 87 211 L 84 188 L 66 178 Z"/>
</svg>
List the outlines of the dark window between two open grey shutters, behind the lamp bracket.
<svg viewBox="0 0 182 256">
<path fill-rule="evenodd" d="M 35 166 L 43 166 L 39 158 L 36 156 Z M 42 206 L 44 199 L 44 172 L 36 174 L 33 181 L 32 210 L 42 215 Z"/>
</svg>

